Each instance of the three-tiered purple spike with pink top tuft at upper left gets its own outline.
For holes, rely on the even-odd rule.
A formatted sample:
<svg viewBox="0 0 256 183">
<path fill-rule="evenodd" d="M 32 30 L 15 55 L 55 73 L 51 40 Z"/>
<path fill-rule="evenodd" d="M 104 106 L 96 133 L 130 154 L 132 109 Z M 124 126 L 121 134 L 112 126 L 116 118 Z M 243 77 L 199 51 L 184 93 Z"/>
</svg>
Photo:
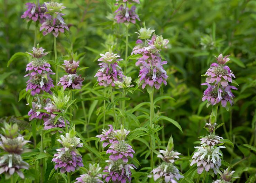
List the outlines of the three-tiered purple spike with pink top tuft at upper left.
<svg viewBox="0 0 256 183">
<path fill-rule="evenodd" d="M 26 72 L 29 71 L 26 76 L 30 76 L 27 81 L 26 91 L 31 90 L 31 95 L 39 94 L 41 91 L 51 93 L 50 89 L 54 87 L 53 80 L 49 76 L 50 74 L 55 74 L 51 70 L 51 65 L 46 62 L 43 58 L 49 52 L 44 53 L 42 47 L 33 47 L 33 53 L 28 53 L 32 55 L 31 61 L 27 64 Z"/>
</svg>

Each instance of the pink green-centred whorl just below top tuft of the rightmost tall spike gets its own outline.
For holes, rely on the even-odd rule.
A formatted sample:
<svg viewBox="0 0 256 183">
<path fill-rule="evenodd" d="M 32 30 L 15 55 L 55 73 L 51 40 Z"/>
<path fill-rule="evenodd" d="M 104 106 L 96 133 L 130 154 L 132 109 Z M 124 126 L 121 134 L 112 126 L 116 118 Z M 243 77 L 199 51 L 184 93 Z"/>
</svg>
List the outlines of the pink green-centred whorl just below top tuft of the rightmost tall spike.
<svg viewBox="0 0 256 183">
<path fill-rule="evenodd" d="M 228 82 L 232 83 L 232 77 L 235 78 L 235 75 L 227 65 L 223 66 L 217 63 L 211 64 L 211 67 L 205 74 L 208 76 L 206 79 L 207 83 L 216 82 L 220 83 L 224 87 L 228 85 Z"/>
</svg>

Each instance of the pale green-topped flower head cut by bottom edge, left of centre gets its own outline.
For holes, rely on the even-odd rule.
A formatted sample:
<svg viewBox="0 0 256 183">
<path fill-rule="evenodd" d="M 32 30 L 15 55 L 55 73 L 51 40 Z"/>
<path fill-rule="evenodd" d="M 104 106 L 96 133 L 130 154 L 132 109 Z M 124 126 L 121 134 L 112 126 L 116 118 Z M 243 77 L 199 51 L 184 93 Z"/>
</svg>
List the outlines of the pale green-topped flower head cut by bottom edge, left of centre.
<svg viewBox="0 0 256 183">
<path fill-rule="evenodd" d="M 80 175 L 76 178 L 75 183 L 103 183 L 100 174 L 101 167 L 99 164 L 89 164 L 89 170 L 86 174 Z"/>
</svg>

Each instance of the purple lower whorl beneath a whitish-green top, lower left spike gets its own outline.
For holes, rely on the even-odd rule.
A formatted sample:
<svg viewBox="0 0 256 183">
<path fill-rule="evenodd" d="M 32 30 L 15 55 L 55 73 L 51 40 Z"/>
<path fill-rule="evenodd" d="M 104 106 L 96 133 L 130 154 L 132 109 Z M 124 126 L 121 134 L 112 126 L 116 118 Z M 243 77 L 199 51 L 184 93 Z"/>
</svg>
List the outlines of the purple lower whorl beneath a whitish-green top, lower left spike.
<svg viewBox="0 0 256 183">
<path fill-rule="evenodd" d="M 63 153 L 63 151 L 65 153 Z M 57 170 L 57 168 L 61 168 L 61 173 L 74 172 L 75 170 L 78 170 L 79 167 L 83 167 L 81 155 L 77 154 L 74 150 L 65 151 L 64 148 L 54 154 L 52 162 L 55 163 L 55 170 Z"/>
</svg>

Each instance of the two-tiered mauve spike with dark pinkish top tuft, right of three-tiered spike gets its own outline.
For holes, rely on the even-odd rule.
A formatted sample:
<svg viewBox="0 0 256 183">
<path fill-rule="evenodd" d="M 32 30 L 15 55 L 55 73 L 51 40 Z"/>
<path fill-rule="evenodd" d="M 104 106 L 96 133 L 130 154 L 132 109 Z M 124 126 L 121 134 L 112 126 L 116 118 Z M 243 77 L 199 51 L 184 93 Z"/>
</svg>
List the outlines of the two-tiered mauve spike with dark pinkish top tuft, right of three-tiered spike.
<svg viewBox="0 0 256 183">
<path fill-rule="evenodd" d="M 61 77 L 58 85 L 61 84 L 63 89 L 72 88 L 72 89 L 81 89 L 83 85 L 84 78 L 81 75 L 76 74 L 77 67 L 79 67 L 79 61 L 75 62 L 73 59 L 70 61 L 64 61 L 65 71 L 67 75 Z"/>
</svg>

